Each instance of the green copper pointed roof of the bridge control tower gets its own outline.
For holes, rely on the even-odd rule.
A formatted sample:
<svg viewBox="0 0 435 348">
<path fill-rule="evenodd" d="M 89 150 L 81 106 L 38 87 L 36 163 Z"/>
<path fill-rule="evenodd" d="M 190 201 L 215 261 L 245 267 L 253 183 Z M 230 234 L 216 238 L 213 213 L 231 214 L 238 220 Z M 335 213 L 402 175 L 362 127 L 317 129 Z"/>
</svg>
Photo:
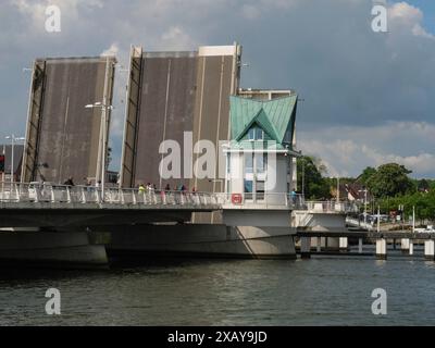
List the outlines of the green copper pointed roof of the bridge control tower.
<svg viewBox="0 0 435 348">
<path fill-rule="evenodd" d="M 293 134 L 297 95 L 273 100 L 253 100 L 237 96 L 229 98 L 233 140 L 240 141 L 257 124 L 276 142 L 291 142 L 291 139 L 286 139 L 286 135 L 288 130 Z"/>
</svg>

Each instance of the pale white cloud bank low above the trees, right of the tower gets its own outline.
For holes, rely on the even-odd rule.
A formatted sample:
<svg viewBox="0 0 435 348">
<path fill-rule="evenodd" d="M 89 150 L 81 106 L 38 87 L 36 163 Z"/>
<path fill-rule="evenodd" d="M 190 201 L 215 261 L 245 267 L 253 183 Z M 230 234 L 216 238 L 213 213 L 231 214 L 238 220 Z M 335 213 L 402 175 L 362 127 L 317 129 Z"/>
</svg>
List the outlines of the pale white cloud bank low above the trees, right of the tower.
<svg viewBox="0 0 435 348">
<path fill-rule="evenodd" d="M 413 176 L 435 176 L 435 124 L 388 123 L 383 126 L 335 126 L 301 132 L 299 147 L 321 158 L 332 176 L 358 176 L 366 166 L 396 162 Z"/>
</svg>

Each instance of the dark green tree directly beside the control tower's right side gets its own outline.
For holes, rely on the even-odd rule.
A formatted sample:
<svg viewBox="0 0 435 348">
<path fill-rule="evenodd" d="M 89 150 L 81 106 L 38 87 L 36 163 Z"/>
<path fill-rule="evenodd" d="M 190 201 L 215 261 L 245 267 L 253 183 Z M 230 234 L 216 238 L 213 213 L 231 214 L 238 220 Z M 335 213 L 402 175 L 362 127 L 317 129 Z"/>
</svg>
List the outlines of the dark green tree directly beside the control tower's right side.
<svg viewBox="0 0 435 348">
<path fill-rule="evenodd" d="M 331 198 L 330 185 L 322 176 L 326 167 L 319 159 L 303 156 L 297 160 L 299 188 L 309 199 Z M 302 187 L 303 185 L 303 187 Z"/>
</svg>

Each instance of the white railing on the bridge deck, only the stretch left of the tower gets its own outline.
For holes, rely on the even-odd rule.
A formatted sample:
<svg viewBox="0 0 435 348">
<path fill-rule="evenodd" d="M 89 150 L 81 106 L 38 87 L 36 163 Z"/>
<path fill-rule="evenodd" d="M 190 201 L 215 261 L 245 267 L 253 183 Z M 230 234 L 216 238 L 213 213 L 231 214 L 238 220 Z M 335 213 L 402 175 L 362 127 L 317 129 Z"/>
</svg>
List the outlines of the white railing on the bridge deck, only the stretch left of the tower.
<svg viewBox="0 0 435 348">
<path fill-rule="evenodd" d="M 51 202 L 51 203 L 117 203 L 117 204 L 219 204 L 214 194 L 166 191 L 96 186 L 67 186 L 44 183 L 1 183 L 0 201 L 4 202 Z"/>
</svg>

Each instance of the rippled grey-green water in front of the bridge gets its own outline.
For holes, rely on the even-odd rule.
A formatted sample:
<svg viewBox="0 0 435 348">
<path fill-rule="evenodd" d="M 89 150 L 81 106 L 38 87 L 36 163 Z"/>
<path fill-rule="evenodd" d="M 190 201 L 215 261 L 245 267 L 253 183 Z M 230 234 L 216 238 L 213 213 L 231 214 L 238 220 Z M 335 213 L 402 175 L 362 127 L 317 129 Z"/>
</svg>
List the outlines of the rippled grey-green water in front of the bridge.
<svg viewBox="0 0 435 348">
<path fill-rule="evenodd" d="M 61 315 L 47 315 L 47 288 Z M 372 290 L 387 291 L 385 316 Z M 172 260 L 110 271 L 0 271 L 0 325 L 435 325 L 421 259 Z"/>
</svg>

